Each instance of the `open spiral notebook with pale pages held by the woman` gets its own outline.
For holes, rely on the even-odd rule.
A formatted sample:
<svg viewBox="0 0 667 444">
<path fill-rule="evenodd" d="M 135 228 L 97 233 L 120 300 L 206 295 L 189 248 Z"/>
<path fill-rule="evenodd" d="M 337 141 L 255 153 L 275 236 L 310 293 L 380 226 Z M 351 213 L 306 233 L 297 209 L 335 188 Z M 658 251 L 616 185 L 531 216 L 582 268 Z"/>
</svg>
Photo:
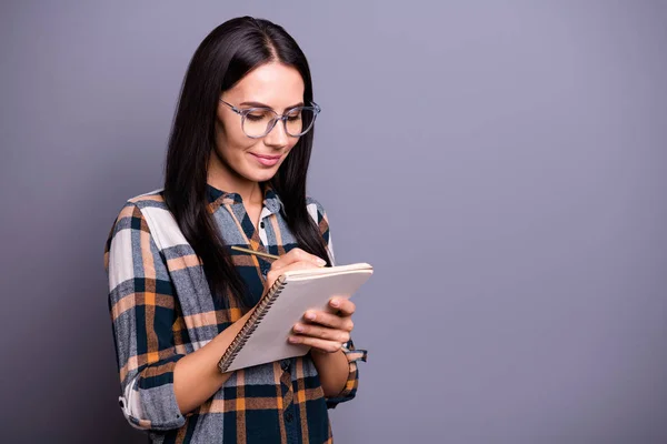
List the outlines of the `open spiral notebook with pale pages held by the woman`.
<svg viewBox="0 0 667 444">
<path fill-rule="evenodd" d="M 351 297 L 371 274 L 367 263 L 286 272 L 259 301 L 218 367 L 225 373 L 305 355 L 309 346 L 287 342 L 292 326 L 307 310 L 328 310 L 332 296 Z"/>
</svg>

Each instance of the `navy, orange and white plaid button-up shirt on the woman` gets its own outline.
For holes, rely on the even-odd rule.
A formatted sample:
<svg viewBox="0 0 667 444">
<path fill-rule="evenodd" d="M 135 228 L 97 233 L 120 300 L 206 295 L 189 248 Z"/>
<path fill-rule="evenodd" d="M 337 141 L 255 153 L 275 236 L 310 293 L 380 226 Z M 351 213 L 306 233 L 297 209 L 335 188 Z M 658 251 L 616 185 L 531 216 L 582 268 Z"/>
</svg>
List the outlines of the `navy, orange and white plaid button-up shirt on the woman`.
<svg viewBox="0 0 667 444">
<path fill-rule="evenodd" d="M 265 190 L 256 230 L 239 194 L 209 186 L 209 211 L 227 245 L 272 254 L 297 246 L 276 192 Z M 308 200 L 334 254 L 327 215 Z M 232 253 L 253 303 L 262 294 L 270 263 Z M 349 362 L 345 390 L 323 396 L 310 355 L 236 371 L 207 402 L 181 415 L 173 394 L 178 360 L 200 349 L 249 309 L 212 297 L 195 250 L 178 229 L 161 190 L 129 200 L 111 230 L 104 250 L 109 310 L 122 395 L 120 406 L 137 428 L 156 443 L 331 443 L 327 408 L 352 398 L 357 362 L 366 352 L 344 346 Z"/>
</svg>

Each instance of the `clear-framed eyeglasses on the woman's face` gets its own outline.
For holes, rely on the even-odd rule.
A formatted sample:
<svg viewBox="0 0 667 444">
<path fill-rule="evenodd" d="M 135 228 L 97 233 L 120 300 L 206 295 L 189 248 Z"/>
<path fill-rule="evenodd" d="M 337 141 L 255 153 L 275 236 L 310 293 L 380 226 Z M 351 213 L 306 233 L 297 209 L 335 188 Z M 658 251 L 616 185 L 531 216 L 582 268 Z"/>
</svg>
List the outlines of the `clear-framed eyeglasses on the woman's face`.
<svg viewBox="0 0 667 444">
<path fill-rule="evenodd" d="M 290 108 L 280 115 L 270 108 L 245 108 L 241 110 L 222 99 L 220 101 L 241 117 L 241 128 L 251 139 L 261 139 L 270 133 L 279 120 L 282 121 L 288 135 L 299 138 L 310 131 L 317 114 L 321 111 L 317 103 L 310 102 L 311 107 Z"/>
</svg>

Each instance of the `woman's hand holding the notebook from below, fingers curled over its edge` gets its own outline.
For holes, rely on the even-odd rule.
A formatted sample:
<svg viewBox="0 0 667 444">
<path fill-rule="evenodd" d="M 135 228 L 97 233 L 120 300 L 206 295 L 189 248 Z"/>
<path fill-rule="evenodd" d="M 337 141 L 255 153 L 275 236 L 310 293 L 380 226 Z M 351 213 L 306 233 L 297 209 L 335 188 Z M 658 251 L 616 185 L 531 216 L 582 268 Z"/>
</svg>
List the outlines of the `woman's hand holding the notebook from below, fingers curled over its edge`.
<svg viewBox="0 0 667 444">
<path fill-rule="evenodd" d="M 289 342 L 309 345 L 322 353 L 338 352 L 350 340 L 355 303 L 345 297 L 331 297 L 328 309 L 307 311 L 303 321 L 295 324 L 295 334 L 289 336 Z"/>
</svg>

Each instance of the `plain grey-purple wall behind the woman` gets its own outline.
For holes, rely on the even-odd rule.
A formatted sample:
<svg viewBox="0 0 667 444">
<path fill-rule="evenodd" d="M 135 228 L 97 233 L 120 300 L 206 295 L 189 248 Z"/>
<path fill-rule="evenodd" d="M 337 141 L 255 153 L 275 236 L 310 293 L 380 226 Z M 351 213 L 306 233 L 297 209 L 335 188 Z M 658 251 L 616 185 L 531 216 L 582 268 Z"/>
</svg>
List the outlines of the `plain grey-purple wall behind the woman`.
<svg viewBox="0 0 667 444">
<path fill-rule="evenodd" d="M 667 441 L 667 2 L 2 2 L 2 442 L 141 443 L 102 250 L 220 22 L 309 57 L 370 350 L 339 443 Z"/>
</svg>

